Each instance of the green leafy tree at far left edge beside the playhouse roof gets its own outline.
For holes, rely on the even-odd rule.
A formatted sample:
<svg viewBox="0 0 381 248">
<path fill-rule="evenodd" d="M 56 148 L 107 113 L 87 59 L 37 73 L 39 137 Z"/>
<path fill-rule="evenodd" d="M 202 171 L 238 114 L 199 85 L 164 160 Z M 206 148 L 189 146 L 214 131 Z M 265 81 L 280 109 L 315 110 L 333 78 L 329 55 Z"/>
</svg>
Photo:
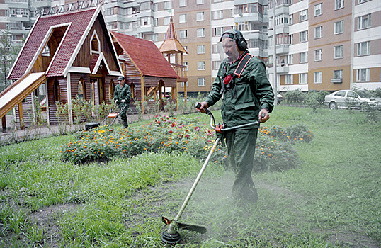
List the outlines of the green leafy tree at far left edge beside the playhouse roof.
<svg viewBox="0 0 381 248">
<path fill-rule="evenodd" d="M 21 43 L 12 43 L 9 30 L 0 30 L 0 92 L 11 84 L 6 77 L 20 49 Z"/>
</svg>

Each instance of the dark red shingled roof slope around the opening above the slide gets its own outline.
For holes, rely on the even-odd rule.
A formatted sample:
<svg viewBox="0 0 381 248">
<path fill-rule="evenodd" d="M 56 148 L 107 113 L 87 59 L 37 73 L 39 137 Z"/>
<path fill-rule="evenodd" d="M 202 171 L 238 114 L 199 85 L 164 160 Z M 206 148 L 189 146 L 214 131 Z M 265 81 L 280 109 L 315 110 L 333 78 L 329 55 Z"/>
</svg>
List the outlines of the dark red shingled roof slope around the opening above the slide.
<svg viewBox="0 0 381 248">
<path fill-rule="evenodd" d="M 71 12 L 58 14 L 54 16 L 42 16 L 38 18 L 33 30 L 29 34 L 28 40 L 25 41 L 23 50 L 21 51 L 16 64 L 14 65 L 8 79 L 18 79 L 29 67 L 34 55 L 38 52 L 47 31 L 51 26 L 62 23 L 71 23 L 64 40 L 61 41 L 61 46 L 56 52 L 55 60 L 51 62 L 50 69 L 47 72 L 47 77 L 61 76 L 67 63 L 70 61 L 74 50 L 79 45 L 86 28 L 89 26 L 91 18 L 97 9 L 88 9 L 85 11 Z"/>
</svg>

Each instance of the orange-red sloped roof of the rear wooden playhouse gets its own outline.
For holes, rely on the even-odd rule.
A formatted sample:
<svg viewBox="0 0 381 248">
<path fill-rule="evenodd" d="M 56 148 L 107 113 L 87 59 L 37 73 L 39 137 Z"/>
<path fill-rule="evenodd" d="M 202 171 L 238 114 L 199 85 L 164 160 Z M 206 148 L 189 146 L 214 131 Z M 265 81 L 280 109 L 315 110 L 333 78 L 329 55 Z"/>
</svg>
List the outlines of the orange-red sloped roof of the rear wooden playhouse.
<svg viewBox="0 0 381 248">
<path fill-rule="evenodd" d="M 174 68 L 152 41 L 123 33 L 111 34 L 144 76 L 178 78 Z"/>
</svg>

